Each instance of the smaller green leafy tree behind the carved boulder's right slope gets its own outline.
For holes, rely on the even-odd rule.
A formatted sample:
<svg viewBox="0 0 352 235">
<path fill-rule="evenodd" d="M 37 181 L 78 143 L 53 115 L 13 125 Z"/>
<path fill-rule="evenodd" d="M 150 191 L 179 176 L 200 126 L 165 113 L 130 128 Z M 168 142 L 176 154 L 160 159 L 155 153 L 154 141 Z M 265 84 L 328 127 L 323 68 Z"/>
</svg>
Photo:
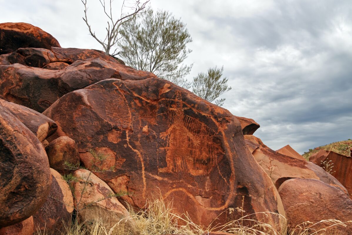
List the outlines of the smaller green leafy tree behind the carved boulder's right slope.
<svg viewBox="0 0 352 235">
<path fill-rule="evenodd" d="M 215 66 L 214 68 L 209 68 L 206 73 L 200 72 L 193 78 L 193 93 L 209 102 L 213 102 L 220 95 L 231 90 L 232 88 L 227 85 L 227 78 L 224 77 L 221 79 L 223 71 L 224 66 L 221 69 Z M 225 98 L 218 99 L 215 101 L 215 104 L 222 106 L 224 101 Z"/>
</svg>

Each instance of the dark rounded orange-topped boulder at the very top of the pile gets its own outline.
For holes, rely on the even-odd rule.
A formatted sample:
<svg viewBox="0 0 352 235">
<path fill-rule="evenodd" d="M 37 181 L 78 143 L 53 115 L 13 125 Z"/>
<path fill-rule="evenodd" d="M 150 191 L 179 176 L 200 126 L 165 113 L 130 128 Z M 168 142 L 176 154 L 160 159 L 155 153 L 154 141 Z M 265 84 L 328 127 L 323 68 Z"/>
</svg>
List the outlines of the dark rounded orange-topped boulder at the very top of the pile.
<svg viewBox="0 0 352 235">
<path fill-rule="evenodd" d="M 27 23 L 0 24 L 0 55 L 23 47 L 51 49 L 52 46 L 60 47 L 60 44 L 41 28 Z"/>
</svg>

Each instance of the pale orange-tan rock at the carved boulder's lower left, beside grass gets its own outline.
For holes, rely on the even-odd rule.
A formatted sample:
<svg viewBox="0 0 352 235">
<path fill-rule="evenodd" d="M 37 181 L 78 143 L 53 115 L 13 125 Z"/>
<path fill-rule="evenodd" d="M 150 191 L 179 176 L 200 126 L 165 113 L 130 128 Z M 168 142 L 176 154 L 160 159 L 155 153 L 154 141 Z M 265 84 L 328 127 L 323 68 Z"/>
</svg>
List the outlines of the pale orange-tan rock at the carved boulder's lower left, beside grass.
<svg viewBox="0 0 352 235">
<path fill-rule="evenodd" d="M 111 188 L 93 173 L 80 169 L 74 172 L 74 176 L 79 179 L 78 182 L 72 183 L 77 199 L 74 205 L 78 208 L 78 216 L 82 222 L 89 225 L 103 218 L 103 226 L 108 230 L 120 220 L 130 216 L 119 200 L 111 197 L 114 194 Z M 106 199 L 102 200 L 103 198 Z M 126 223 L 130 227 L 134 225 L 133 221 L 128 218 L 126 218 Z"/>
</svg>

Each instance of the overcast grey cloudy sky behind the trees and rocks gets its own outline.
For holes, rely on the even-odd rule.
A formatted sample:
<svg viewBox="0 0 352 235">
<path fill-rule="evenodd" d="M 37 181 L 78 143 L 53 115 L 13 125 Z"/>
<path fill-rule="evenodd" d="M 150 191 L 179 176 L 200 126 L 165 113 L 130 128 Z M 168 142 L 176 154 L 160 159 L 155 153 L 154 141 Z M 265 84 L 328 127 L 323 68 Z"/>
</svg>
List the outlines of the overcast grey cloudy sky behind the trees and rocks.
<svg viewBox="0 0 352 235">
<path fill-rule="evenodd" d="M 103 33 L 99 1 L 87 1 L 92 28 Z M 352 139 L 351 0 L 151 0 L 151 6 L 187 24 L 189 79 L 224 65 L 232 90 L 223 107 L 256 120 L 254 135 L 272 149 L 290 144 L 303 153 Z M 1 23 L 33 24 L 62 47 L 102 49 L 88 34 L 80 0 L 0 0 L 0 9 Z"/>
</svg>

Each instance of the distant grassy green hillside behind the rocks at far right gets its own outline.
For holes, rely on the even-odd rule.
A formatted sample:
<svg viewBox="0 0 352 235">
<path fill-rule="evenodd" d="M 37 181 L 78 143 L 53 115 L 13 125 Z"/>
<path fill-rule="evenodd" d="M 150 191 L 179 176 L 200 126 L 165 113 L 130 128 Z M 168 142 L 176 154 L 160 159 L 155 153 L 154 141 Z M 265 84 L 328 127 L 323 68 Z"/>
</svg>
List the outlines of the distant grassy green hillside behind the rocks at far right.
<svg viewBox="0 0 352 235">
<path fill-rule="evenodd" d="M 352 140 L 348 139 L 348 140 L 343 140 L 343 141 L 339 141 L 339 142 L 334 142 L 328 145 L 323 145 L 323 146 L 319 146 L 319 147 L 315 147 L 314 149 L 309 149 L 308 152 L 305 152 L 302 154 L 302 156 L 309 160 L 309 157 L 314 154 L 319 152 L 320 150 L 329 150 L 329 151 L 333 151 L 336 153 L 340 153 L 346 156 L 350 156 L 351 151 L 350 149 L 352 148 Z"/>
</svg>

